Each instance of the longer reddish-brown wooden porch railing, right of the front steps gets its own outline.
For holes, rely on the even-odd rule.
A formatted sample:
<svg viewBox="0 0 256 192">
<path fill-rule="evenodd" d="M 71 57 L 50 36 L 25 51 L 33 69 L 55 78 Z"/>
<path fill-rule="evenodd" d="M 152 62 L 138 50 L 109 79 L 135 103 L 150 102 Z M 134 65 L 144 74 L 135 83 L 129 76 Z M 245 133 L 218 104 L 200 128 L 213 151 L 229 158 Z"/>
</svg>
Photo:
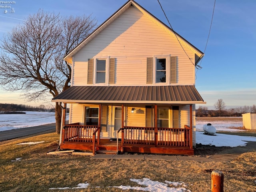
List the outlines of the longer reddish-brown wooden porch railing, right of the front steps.
<svg viewBox="0 0 256 192">
<path fill-rule="evenodd" d="M 154 145 L 156 139 L 158 146 L 192 146 L 190 128 L 186 125 L 184 128 L 158 128 L 157 134 L 154 127 L 124 126 L 123 144 Z"/>
</svg>

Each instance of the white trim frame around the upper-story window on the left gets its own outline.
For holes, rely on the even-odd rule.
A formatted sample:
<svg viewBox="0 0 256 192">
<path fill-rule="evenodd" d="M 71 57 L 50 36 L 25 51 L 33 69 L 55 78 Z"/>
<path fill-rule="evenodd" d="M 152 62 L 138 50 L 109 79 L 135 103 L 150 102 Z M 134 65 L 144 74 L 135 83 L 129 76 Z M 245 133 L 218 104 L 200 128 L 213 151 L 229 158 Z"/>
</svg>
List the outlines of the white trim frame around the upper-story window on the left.
<svg viewBox="0 0 256 192">
<path fill-rule="evenodd" d="M 93 85 L 95 86 L 106 86 L 108 85 L 108 76 L 109 76 L 109 58 L 110 56 L 106 56 L 106 57 L 94 57 L 94 64 L 93 64 Z M 96 70 L 96 64 L 97 64 L 97 60 L 106 60 L 106 74 L 105 74 L 105 83 L 97 83 L 96 82 L 96 78 L 97 78 L 97 70 Z"/>
</svg>

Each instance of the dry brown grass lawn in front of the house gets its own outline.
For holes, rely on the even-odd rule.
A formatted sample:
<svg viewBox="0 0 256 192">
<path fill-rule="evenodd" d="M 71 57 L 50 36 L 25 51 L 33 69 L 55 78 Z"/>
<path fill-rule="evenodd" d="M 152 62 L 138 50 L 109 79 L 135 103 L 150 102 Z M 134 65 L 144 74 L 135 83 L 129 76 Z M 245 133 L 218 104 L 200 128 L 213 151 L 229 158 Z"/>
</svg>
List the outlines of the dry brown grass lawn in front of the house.
<svg viewBox="0 0 256 192">
<path fill-rule="evenodd" d="M 212 170 L 224 173 L 225 192 L 256 191 L 256 152 L 242 154 L 231 162 L 91 160 L 88 156 L 51 156 L 46 152 L 57 148 L 58 135 L 44 134 L 22 140 L 0 143 L 0 191 L 99 192 L 122 191 L 108 186 L 138 186 L 130 178 L 150 178 L 159 182 L 182 181 L 192 192 L 210 192 Z M 36 145 L 21 142 L 45 141 Z M 11 162 L 22 157 L 21 161 Z M 86 189 L 48 190 L 76 187 L 88 182 Z M 101 188 L 94 188 L 100 186 Z M 132 192 L 135 190 L 126 190 Z"/>
</svg>

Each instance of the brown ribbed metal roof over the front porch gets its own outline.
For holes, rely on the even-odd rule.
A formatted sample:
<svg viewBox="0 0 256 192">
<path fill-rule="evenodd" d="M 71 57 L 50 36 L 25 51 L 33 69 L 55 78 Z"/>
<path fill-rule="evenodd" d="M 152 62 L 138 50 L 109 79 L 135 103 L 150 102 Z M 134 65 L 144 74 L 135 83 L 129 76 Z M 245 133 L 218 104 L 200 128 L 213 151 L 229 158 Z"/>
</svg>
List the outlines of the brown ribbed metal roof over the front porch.
<svg viewBox="0 0 256 192">
<path fill-rule="evenodd" d="M 73 86 L 53 102 L 205 103 L 195 86 Z"/>
</svg>

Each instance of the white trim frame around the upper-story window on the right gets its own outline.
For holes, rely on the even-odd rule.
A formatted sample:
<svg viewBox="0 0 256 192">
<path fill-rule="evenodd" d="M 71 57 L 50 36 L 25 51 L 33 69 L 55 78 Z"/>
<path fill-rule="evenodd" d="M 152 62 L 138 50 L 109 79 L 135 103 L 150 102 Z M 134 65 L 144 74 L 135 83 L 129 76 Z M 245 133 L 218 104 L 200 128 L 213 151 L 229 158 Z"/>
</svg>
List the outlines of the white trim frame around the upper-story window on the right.
<svg viewBox="0 0 256 192">
<path fill-rule="evenodd" d="M 166 82 L 156 82 L 156 59 L 166 59 Z M 170 55 L 154 55 L 153 56 L 153 85 L 169 85 L 170 84 Z"/>
</svg>

